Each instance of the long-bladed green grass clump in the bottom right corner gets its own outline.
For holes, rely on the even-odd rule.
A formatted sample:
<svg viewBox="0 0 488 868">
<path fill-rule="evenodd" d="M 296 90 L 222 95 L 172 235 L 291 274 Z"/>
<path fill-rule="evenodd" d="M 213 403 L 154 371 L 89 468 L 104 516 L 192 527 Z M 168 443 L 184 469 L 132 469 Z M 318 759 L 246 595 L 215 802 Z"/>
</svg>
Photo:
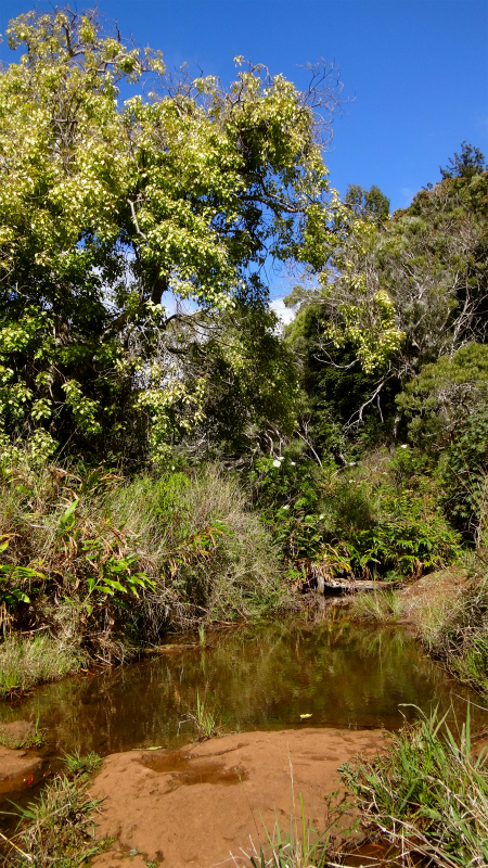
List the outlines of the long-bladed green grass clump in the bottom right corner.
<svg viewBox="0 0 488 868">
<path fill-rule="evenodd" d="M 473 756 L 468 714 L 459 739 L 435 712 L 394 733 L 385 755 L 341 771 L 373 835 L 403 855 L 440 868 L 488 864 L 488 769 Z"/>
</svg>

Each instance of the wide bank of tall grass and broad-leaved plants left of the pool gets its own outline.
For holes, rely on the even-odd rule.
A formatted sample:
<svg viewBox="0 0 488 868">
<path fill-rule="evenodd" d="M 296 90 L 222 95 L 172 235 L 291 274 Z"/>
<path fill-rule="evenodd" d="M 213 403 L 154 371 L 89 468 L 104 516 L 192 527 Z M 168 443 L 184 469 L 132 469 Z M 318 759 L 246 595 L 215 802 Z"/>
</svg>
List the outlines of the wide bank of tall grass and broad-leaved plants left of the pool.
<svg viewBox="0 0 488 868">
<path fill-rule="evenodd" d="M 81 646 L 123 659 L 169 628 L 285 601 L 269 534 L 239 482 L 214 465 L 126 480 L 25 458 L 1 474 L 0 627 L 49 628 L 59 642 L 50 658 Z M 38 665 L 39 642 L 20 649 L 0 651 L 12 662 L 4 690 L 22 684 L 21 656 Z M 57 663 L 66 671 L 65 655 Z"/>
</svg>

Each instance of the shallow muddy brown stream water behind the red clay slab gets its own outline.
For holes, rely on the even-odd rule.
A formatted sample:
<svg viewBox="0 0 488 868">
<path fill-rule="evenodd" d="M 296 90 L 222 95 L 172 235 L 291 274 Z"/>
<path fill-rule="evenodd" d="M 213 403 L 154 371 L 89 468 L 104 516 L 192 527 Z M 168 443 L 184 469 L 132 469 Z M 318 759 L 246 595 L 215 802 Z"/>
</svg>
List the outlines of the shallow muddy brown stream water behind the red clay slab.
<svg viewBox="0 0 488 868">
<path fill-rule="evenodd" d="M 310 728 L 329 729 L 331 738 L 332 730 L 350 736 L 362 730 L 365 738 L 368 730 L 397 729 L 404 717 L 413 719 L 418 710 L 428 714 L 435 706 L 440 712 L 451 710 L 451 722 L 454 716 L 461 720 L 470 698 L 466 688 L 448 678 L 399 627 L 351 624 L 347 617 L 320 623 L 295 617 L 221 630 L 208 634 L 205 647 L 77 675 L 44 686 L 22 702 L 2 703 L 0 727 L 39 719 L 47 738 L 37 751 L 41 765 L 14 791 L 0 794 L 1 807 L 12 809 L 5 800 L 24 804 L 31 800 L 42 780 L 60 768 L 63 753 L 74 751 L 106 756 L 169 748 L 170 760 L 134 752 L 124 762 L 138 758 L 144 775 L 151 769 L 159 778 L 164 771 L 172 773 L 179 784 L 245 780 L 245 751 L 237 771 L 210 754 L 201 768 L 195 763 L 187 768 L 187 754 L 179 751 L 193 739 L 192 726 L 184 719 L 195 711 L 197 694 L 218 710 L 224 730 L 236 733 L 231 737 L 236 739 L 232 750 L 241 754 L 264 732 L 280 731 L 290 741 L 304 738 Z M 475 727 L 486 727 L 485 713 L 474 709 L 473 717 Z M 262 750 L 269 753 L 271 746 Z M 204 755 L 198 762 L 203 761 Z"/>
</svg>

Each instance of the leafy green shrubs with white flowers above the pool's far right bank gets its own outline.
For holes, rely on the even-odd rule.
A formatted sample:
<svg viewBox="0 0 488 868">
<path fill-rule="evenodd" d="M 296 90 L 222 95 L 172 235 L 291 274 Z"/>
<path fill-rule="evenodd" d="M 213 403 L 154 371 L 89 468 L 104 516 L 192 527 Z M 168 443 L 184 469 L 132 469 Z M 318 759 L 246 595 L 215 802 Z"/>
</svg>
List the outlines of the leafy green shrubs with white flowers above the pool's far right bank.
<svg viewBox="0 0 488 868">
<path fill-rule="evenodd" d="M 292 565 L 333 575 L 421 574 L 451 563 L 461 537 L 441 509 L 428 459 L 398 448 L 344 469 L 303 459 L 260 459 L 255 502 Z"/>
</svg>

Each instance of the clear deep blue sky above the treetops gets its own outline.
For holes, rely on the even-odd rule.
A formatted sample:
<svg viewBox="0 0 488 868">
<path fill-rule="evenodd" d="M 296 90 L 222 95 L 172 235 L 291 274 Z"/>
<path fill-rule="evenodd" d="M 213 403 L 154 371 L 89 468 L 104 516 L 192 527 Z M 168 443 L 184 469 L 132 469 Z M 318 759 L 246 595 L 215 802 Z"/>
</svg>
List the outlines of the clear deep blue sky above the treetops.
<svg viewBox="0 0 488 868">
<path fill-rule="evenodd" d="M 0 31 L 35 5 L 54 3 L 1 0 Z M 336 61 L 350 101 L 326 162 L 343 193 L 349 182 L 376 183 L 403 207 L 438 180 L 439 164 L 463 139 L 488 159 L 487 0 L 99 0 L 98 8 L 123 36 L 160 48 L 168 66 L 195 61 L 226 84 L 236 54 L 298 85 L 300 64 Z M 15 58 L 5 43 L 0 56 Z"/>
</svg>

